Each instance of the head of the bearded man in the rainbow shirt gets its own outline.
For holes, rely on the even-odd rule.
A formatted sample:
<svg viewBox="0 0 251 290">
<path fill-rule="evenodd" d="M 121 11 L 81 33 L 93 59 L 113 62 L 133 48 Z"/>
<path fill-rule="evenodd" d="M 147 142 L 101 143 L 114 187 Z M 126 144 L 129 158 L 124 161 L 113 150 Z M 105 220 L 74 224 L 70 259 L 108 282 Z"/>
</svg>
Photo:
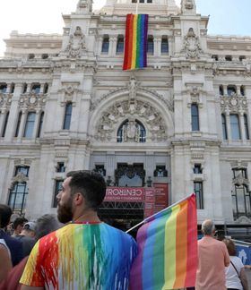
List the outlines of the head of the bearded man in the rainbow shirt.
<svg viewBox="0 0 251 290">
<path fill-rule="evenodd" d="M 57 194 L 57 218 L 67 223 L 83 215 L 96 213 L 106 195 L 104 178 L 93 171 L 72 171 L 66 175 Z"/>
</svg>

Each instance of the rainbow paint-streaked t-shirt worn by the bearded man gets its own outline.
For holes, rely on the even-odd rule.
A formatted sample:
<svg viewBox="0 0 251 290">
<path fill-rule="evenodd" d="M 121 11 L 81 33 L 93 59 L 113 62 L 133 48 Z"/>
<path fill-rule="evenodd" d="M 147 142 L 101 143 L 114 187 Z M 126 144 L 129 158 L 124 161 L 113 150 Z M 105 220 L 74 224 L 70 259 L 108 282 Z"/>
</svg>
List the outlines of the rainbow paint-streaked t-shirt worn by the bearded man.
<svg viewBox="0 0 251 290">
<path fill-rule="evenodd" d="M 117 228 L 70 224 L 36 243 L 20 283 L 60 290 L 124 290 L 136 254 L 134 239 Z"/>
</svg>

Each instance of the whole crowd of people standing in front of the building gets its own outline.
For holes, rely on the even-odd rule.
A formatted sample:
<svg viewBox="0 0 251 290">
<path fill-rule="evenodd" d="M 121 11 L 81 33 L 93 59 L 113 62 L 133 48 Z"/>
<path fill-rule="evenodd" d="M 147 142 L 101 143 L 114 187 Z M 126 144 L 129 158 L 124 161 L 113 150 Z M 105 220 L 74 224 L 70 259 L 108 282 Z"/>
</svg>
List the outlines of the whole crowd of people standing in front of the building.
<svg viewBox="0 0 251 290">
<path fill-rule="evenodd" d="M 100 221 L 105 194 L 101 175 L 74 171 L 57 195 L 57 218 L 44 215 L 32 222 L 0 204 L 0 290 L 128 289 L 137 244 Z M 195 289 L 247 290 L 233 241 L 215 239 L 210 219 L 202 231 Z"/>
</svg>

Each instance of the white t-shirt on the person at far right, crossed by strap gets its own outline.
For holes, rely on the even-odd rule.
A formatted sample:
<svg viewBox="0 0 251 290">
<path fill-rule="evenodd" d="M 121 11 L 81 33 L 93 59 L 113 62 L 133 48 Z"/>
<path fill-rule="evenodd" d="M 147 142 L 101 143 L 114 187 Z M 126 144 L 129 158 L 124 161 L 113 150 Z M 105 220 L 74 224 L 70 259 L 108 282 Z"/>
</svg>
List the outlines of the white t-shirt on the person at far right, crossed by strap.
<svg viewBox="0 0 251 290">
<path fill-rule="evenodd" d="M 226 286 L 227 288 L 235 288 L 235 289 L 243 290 L 240 279 L 238 277 L 240 273 L 240 269 L 244 268 L 243 263 L 236 256 L 230 256 L 230 260 L 235 265 L 235 268 L 238 270 L 238 274 L 237 274 L 236 269 L 234 269 L 233 265 L 230 263 L 229 267 L 225 268 Z"/>
</svg>

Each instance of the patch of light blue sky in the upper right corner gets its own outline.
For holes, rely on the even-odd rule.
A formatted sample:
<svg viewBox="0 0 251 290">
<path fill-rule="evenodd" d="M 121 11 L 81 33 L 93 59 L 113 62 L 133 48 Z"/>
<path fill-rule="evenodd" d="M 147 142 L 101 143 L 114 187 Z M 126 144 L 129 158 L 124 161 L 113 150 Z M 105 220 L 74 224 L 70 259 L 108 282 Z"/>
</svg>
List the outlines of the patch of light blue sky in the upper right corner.
<svg viewBox="0 0 251 290">
<path fill-rule="evenodd" d="M 196 0 L 197 12 L 210 15 L 209 34 L 251 36 L 251 0 Z"/>
</svg>

